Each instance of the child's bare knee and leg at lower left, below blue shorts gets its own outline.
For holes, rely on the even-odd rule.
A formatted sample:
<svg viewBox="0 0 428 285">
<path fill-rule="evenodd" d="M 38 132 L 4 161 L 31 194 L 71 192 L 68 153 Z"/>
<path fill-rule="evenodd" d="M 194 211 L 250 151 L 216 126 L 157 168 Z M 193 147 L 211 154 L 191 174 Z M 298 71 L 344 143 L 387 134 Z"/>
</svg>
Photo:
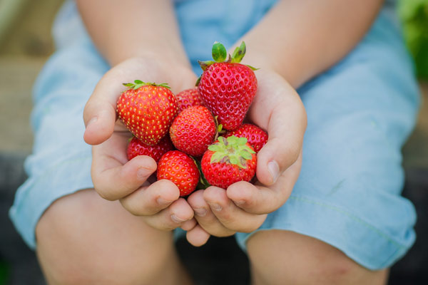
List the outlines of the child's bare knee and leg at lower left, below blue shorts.
<svg viewBox="0 0 428 285">
<path fill-rule="evenodd" d="M 93 190 L 51 204 L 36 238 L 49 284 L 191 284 L 171 232 L 148 227 Z"/>
</svg>

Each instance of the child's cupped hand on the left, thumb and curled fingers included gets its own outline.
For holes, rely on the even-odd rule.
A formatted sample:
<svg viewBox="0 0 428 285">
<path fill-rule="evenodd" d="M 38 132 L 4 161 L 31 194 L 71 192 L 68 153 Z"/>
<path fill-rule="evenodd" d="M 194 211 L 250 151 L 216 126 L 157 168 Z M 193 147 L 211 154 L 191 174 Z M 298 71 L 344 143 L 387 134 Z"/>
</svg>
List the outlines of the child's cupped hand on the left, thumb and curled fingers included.
<svg viewBox="0 0 428 285">
<path fill-rule="evenodd" d="M 91 175 L 96 192 L 108 200 L 119 199 L 123 207 L 156 229 L 190 229 L 195 225 L 193 210 L 168 180 L 150 184 L 156 162 L 147 156 L 128 161 L 126 147 L 131 133 L 116 120 L 116 100 L 122 83 L 141 79 L 168 83 L 173 92 L 194 86 L 196 76 L 188 67 L 174 66 L 151 58 L 131 58 L 108 71 L 86 103 L 84 139 L 93 145 Z M 186 222 L 187 221 L 187 222 Z"/>
</svg>

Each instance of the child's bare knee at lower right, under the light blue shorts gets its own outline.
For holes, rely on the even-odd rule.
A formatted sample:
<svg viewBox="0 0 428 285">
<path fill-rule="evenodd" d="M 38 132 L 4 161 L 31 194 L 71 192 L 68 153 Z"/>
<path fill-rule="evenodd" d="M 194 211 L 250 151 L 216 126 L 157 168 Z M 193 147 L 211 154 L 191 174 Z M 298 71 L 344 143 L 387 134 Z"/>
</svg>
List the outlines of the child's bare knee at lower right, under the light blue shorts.
<svg viewBox="0 0 428 285">
<path fill-rule="evenodd" d="M 370 271 L 339 249 L 295 232 L 270 230 L 248 240 L 255 284 L 384 284 L 387 271 Z"/>
</svg>

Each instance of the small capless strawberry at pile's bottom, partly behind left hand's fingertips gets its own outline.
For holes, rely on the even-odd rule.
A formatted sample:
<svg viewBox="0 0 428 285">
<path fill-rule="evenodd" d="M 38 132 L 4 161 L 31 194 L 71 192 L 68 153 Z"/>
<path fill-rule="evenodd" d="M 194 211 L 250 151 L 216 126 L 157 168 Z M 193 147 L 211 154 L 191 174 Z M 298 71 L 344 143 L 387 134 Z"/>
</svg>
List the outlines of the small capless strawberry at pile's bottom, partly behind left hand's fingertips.
<svg viewBox="0 0 428 285">
<path fill-rule="evenodd" d="M 158 180 L 174 182 L 180 190 L 180 196 L 195 191 L 200 177 L 195 160 L 179 150 L 171 150 L 161 157 L 157 176 Z"/>
</svg>

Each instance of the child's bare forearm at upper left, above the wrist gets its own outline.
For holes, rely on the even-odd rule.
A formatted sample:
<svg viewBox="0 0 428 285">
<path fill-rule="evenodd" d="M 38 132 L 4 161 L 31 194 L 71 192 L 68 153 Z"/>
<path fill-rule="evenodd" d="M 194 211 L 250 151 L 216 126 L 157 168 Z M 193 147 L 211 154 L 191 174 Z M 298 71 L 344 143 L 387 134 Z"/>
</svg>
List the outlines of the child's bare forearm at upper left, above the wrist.
<svg viewBox="0 0 428 285">
<path fill-rule="evenodd" d="M 136 56 L 188 65 L 170 0 L 76 0 L 88 33 L 112 66 Z"/>
</svg>

